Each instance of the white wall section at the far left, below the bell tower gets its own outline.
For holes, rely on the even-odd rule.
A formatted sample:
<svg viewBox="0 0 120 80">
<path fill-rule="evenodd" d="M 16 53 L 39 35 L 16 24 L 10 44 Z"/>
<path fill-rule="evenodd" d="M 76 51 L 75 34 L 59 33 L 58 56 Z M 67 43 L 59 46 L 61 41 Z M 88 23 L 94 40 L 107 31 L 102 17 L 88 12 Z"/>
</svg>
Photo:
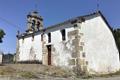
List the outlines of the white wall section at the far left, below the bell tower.
<svg viewBox="0 0 120 80">
<path fill-rule="evenodd" d="M 24 38 L 19 40 L 19 61 L 28 61 L 28 60 L 38 60 L 42 61 L 42 43 L 41 43 L 41 35 L 34 36 L 34 40 L 32 41 L 32 37 Z M 33 54 L 30 54 L 31 47 L 33 48 Z M 32 58 L 34 57 L 34 58 Z"/>
</svg>

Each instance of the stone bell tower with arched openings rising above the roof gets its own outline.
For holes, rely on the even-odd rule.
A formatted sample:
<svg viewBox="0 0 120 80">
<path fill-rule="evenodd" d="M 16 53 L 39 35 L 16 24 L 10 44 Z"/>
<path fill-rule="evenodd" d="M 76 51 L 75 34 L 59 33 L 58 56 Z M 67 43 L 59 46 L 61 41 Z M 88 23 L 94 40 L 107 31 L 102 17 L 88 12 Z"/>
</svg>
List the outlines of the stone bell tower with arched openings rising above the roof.
<svg viewBox="0 0 120 80">
<path fill-rule="evenodd" d="M 30 12 L 27 15 L 27 30 L 28 33 L 33 33 L 43 29 L 43 18 L 39 16 L 37 11 Z"/>
</svg>

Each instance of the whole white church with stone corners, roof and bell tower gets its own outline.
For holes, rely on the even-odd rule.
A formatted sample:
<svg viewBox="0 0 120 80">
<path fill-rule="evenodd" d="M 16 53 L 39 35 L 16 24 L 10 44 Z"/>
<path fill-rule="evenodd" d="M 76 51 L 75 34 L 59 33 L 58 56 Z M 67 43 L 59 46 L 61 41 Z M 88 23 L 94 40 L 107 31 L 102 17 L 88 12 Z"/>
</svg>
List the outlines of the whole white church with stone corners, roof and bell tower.
<svg viewBox="0 0 120 80">
<path fill-rule="evenodd" d="M 101 12 L 47 28 L 37 12 L 31 12 L 27 19 L 28 29 L 17 35 L 17 62 L 38 61 L 90 74 L 119 70 L 115 39 Z"/>
</svg>

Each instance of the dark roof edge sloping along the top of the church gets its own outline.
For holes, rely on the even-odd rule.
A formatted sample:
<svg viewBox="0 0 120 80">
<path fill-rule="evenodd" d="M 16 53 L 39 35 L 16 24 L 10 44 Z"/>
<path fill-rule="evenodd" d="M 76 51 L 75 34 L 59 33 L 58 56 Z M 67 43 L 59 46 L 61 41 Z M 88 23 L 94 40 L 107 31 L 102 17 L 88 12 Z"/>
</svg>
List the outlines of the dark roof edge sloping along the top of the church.
<svg viewBox="0 0 120 80">
<path fill-rule="evenodd" d="M 77 20 L 79 20 L 80 22 L 82 22 L 83 19 L 86 19 L 87 17 L 95 17 L 95 16 L 101 16 L 103 18 L 103 20 L 105 21 L 105 23 L 108 25 L 108 27 L 111 29 L 110 25 L 108 24 L 107 20 L 105 19 L 105 17 L 102 15 L 102 13 L 100 11 L 97 11 L 97 12 L 94 12 L 94 13 L 91 13 L 91 14 L 88 14 L 88 15 L 83 15 L 83 16 L 78 16 L 78 17 L 75 17 L 75 18 L 71 18 L 69 20 L 66 20 L 64 22 L 61 22 L 59 24 L 56 24 L 56 25 L 52 25 L 52 26 L 49 26 L 47 28 L 44 28 L 42 30 L 39 30 L 39 31 L 35 31 L 34 33 L 22 33 L 20 35 L 17 35 L 18 38 L 22 38 L 22 37 L 28 37 L 28 36 L 32 36 L 36 33 L 39 33 L 39 32 L 44 32 L 46 30 L 49 30 L 49 29 L 52 29 L 52 28 L 57 28 L 59 26 L 62 26 L 62 25 L 65 25 L 65 24 L 69 24 L 69 23 L 73 23 L 73 22 L 76 22 Z"/>
</svg>

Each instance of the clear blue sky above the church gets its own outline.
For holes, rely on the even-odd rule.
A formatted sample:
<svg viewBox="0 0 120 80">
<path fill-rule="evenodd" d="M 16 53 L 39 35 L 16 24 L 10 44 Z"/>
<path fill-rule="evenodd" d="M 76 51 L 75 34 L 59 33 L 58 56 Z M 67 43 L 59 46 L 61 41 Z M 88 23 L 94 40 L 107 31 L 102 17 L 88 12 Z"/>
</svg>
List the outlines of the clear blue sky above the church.
<svg viewBox="0 0 120 80">
<path fill-rule="evenodd" d="M 98 1 L 98 2 L 97 2 Z M 27 29 L 26 15 L 37 9 L 44 27 L 99 10 L 113 28 L 120 26 L 120 0 L 0 0 L 0 29 L 6 33 L 0 50 L 16 52 L 16 34 Z M 37 5 L 37 7 L 36 7 Z"/>
</svg>

